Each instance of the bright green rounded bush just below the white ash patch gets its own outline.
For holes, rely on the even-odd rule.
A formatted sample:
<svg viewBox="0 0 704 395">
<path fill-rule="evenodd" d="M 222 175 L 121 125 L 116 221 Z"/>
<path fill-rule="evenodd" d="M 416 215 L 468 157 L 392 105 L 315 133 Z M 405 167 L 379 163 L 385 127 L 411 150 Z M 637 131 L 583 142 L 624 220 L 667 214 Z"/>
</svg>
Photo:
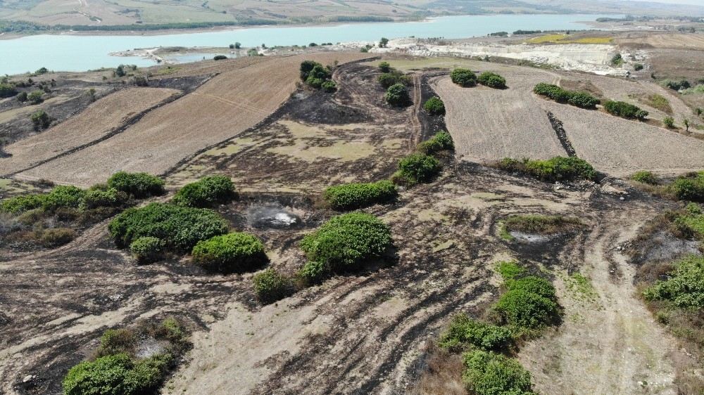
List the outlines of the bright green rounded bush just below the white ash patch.
<svg viewBox="0 0 704 395">
<path fill-rule="evenodd" d="M 193 247 L 193 261 L 210 271 L 239 273 L 268 261 L 264 245 L 249 233 L 227 233 L 199 241 Z"/>
</svg>

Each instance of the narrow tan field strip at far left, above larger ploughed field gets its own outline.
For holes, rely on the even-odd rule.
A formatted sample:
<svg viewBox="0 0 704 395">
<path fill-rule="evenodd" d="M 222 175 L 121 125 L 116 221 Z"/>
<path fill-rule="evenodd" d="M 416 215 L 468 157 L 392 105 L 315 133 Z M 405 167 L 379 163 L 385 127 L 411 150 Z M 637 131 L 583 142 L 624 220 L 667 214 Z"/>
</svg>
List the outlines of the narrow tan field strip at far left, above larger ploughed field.
<svg viewBox="0 0 704 395">
<path fill-rule="evenodd" d="M 130 88 L 115 92 L 65 122 L 4 148 L 11 154 L 0 161 L 0 174 L 26 169 L 32 163 L 105 136 L 127 119 L 178 93 L 175 89 Z"/>
</svg>

